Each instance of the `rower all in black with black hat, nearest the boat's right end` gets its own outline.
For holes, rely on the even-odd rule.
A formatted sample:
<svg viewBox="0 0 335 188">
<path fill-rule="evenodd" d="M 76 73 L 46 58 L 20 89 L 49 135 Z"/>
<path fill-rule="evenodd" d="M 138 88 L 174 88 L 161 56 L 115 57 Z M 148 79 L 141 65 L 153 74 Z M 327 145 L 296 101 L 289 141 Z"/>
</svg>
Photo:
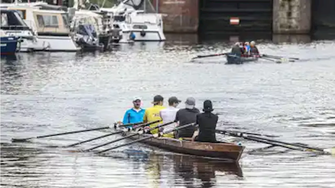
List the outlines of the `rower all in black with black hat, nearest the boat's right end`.
<svg viewBox="0 0 335 188">
<path fill-rule="evenodd" d="M 197 142 L 216 143 L 215 129 L 218 116 L 213 114 L 212 102 L 204 101 L 204 113 L 197 115 L 196 123 L 199 125 L 199 135 L 195 137 Z"/>
</svg>

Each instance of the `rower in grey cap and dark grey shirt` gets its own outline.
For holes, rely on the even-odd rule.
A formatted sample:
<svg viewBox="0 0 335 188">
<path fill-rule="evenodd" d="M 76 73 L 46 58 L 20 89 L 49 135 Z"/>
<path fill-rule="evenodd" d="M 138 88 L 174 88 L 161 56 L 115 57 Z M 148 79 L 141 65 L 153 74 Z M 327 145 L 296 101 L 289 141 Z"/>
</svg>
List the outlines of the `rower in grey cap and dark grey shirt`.
<svg viewBox="0 0 335 188">
<path fill-rule="evenodd" d="M 178 110 L 176 114 L 176 121 L 178 124 L 177 126 L 183 126 L 189 123 L 196 122 L 197 114 L 199 113 L 200 111 L 198 110 L 198 108 L 195 107 L 195 99 L 193 97 L 187 98 L 185 102 L 185 108 Z M 176 134 L 176 138 L 191 138 L 195 129 L 196 128 L 194 126 L 180 129 Z"/>
</svg>

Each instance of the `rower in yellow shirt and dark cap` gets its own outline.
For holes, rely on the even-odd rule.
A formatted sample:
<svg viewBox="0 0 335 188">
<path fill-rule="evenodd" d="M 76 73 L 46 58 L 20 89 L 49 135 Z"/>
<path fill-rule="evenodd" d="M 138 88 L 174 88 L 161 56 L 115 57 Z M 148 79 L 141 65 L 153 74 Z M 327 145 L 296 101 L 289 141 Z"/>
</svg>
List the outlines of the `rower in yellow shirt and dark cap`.
<svg viewBox="0 0 335 188">
<path fill-rule="evenodd" d="M 143 116 L 143 123 L 151 122 L 151 121 L 157 121 L 160 120 L 157 123 L 152 123 L 149 125 L 150 128 L 157 126 L 158 124 L 162 124 L 162 118 L 160 117 L 160 110 L 164 109 L 163 107 L 163 100 L 164 98 L 161 95 L 156 95 L 153 98 L 153 101 L 151 102 L 153 104 L 153 107 L 145 109 L 144 116 Z M 158 128 L 155 128 L 150 131 L 151 134 L 158 133 Z"/>
</svg>

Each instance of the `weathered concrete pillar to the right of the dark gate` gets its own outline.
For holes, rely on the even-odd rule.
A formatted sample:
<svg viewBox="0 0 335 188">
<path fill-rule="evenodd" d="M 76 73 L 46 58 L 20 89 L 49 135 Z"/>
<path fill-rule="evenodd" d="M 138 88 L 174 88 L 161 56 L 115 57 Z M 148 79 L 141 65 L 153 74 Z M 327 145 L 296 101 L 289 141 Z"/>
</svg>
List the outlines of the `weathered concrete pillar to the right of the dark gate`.
<svg viewBox="0 0 335 188">
<path fill-rule="evenodd" d="M 273 0 L 273 33 L 310 33 L 311 4 L 312 0 Z"/>
</svg>

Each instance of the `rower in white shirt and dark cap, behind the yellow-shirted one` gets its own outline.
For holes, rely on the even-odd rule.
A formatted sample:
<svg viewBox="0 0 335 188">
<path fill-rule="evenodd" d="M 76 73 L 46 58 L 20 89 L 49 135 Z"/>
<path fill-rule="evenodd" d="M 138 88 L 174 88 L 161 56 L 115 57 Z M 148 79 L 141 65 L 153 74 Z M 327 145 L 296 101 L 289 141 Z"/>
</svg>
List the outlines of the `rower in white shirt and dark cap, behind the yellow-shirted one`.
<svg viewBox="0 0 335 188">
<path fill-rule="evenodd" d="M 163 123 L 171 122 L 171 121 L 174 121 L 176 119 L 176 113 L 179 110 L 179 108 L 177 108 L 177 106 L 180 102 L 182 102 L 182 101 L 179 100 L 177 97 L 170 97 L 169 98 L 169 107 L 164 108 L 164 109 L 160 110 L 160 112 L 159 112 L 160 117 L 163 119 Z M 172 130 L 175 127 L 176 127 L 176 124 L 172 123 L 172 124 L 169 124 L 169 125 L 166 125 L 166 126 L 162 127 L 160 129 L 160 131 L 162 129 L 164 129 L 166 131 L 167 130 Z M 170 137 L 170 138 L 175 137 L 173 132 L 168 133 L 168 134 L 163 134 L 163 136 Z"/>
</svg>

